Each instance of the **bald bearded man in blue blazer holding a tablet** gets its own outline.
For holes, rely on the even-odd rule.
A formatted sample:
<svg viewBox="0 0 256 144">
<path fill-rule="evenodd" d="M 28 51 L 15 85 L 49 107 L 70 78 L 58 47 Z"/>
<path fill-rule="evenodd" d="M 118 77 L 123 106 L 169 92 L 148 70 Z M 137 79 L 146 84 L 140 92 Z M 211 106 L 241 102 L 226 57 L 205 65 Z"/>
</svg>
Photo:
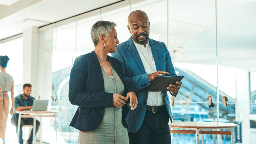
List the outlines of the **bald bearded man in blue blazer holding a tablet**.
<svg viewBox="0 0 256 144">
<path fill-rule="evenodd" d="M 143 11 L 133 11 L 128 17 L 131 38 L 118 45 L 112 53 L 121 61 L 124 75 L 136 83 L 138 105 L 126 117 L 130 144 L 170 144 L 169 118 L 172 113 L 166 92 L 147 92 L 146 87 L 157 76 L 176 75 L 170 53 L 163 42 L 148 38 L 148 16 Z M 167 89 L 176 96 L 181 82 Z"/>
</svg>

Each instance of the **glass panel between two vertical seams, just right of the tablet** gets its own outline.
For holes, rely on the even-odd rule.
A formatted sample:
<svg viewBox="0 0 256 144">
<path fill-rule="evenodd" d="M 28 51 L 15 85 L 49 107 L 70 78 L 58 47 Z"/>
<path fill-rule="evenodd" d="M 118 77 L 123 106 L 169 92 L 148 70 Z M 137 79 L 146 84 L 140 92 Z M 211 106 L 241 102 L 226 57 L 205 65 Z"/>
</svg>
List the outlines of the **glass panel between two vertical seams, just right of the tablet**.
<svg viewBox="0 0 256 144">
<path fill-rule="evenodd" d="M 175 121 L 217 122 L 215 13 L 215 0 L 168 1 L 165 35 L 175 69 L 178 75 L 184 75 L 182 87 L 174 98 Z M 208 97 L 214 107 L 209 107 Z M 172 136 L 173 144 L 196 143 L 194 134 Z M 201 137 L 199 141 L 202 143 Z M 217 143 L 216 136 L 205 135 L 207 142 Z"/>
</svg>

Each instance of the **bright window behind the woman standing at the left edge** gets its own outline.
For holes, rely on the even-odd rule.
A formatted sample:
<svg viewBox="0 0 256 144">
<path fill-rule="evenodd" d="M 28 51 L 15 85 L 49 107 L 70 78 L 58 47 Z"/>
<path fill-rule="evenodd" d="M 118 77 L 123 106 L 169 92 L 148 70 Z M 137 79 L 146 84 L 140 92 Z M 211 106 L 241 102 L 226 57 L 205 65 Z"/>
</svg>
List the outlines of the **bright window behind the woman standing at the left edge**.
<svg viewBox="0 0 256 144">
<path fill-rule="evenodd" d="M 23 37 L 17 35 L 5 40 L 0 41 L 0 55 L 7 55 L 10 60 L 5 69 L 6 73 L 10 74 L 13 78 L 14 84 L 14 97 L 22 92 L 22 72 L 23 72 Z M 7 93 L 9 96 L 9 111 L 12 107 L 11 92 Z M 1 109 L 2 110 L 2 109 Z M 16 127 L 11 124 L 12 116 L 8 113 L 5 131 L 5 142 L 17 142 Z M 1 118 L 0 118 L 1 119 Z M 2 140 L 0 140 L 2 143 Z"/>
</svg>

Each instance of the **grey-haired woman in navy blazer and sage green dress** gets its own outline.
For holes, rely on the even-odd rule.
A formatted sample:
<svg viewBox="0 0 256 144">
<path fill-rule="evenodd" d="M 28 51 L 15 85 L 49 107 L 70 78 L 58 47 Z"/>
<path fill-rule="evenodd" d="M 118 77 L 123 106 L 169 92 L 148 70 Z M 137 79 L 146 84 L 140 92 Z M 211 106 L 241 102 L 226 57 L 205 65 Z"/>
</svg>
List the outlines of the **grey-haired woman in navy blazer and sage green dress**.
<svg viewBox="0 0 256 144">
<path fill-rule="evenodd" d="M 79 107 L 70 126 L 79 130 L 79 144 L 129 144 L 126 103 L 130 99 L 134 110 L 138 101 L 121 62 L 107 55 L 119 43 L 115 26 L 96 22 L 91 29 L 94 51 L 77 57 L 71 69 L 69 100 Z"/>
</svg>

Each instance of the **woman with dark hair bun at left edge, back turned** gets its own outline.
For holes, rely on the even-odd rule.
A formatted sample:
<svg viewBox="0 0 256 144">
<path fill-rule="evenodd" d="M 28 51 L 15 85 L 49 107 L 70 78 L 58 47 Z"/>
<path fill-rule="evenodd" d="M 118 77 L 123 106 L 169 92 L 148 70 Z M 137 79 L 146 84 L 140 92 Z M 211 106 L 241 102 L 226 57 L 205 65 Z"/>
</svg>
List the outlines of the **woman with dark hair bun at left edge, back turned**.
<svg viewBox="0 0 256 144">
<path fill-rule="evenodd" d="M 1 99 L 0 99 L 0 138 L 4 142 L 5 137 L 5 128 L 6 128 L 6 120 L 9 112 L 9 97 L 7 95 L 8 91 L 11 91 L 12 98 L 12 108 L 10 114 L 13 114 L 14 110 L 14 97 L 13 97 L 13 79 L 8 73 L 5 72 L 5 68 L 9 61 L 8 56 L 0 56 L 0 91 L 1 91 Z"/>
</svg>

